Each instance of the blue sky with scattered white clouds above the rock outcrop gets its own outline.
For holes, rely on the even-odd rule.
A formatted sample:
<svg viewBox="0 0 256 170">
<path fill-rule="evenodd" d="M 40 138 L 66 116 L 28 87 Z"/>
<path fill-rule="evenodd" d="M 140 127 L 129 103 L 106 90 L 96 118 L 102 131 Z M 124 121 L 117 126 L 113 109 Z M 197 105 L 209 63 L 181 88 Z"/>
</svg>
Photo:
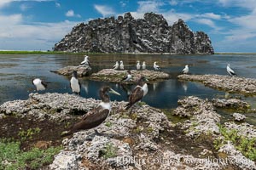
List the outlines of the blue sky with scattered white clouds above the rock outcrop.
<svg viewBox="0 0 256 170">
<path fill-rule="evenodd" d="M 0 50 L 52 50 L 73 26 L 126 12 L 183 19 L 215 52 L 256 52 L 256 0 L 0 0 Z"/>
</svg>

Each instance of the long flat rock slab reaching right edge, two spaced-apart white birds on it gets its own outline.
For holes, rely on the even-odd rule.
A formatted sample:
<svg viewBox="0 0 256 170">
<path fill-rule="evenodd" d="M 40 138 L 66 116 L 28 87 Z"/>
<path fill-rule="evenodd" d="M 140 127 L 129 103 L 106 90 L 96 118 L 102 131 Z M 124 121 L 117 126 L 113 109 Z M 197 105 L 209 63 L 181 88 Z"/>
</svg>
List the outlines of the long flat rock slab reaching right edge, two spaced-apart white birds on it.
<svg viewBox="0 0 256 170">
<path fill-rule="evenodd" d="M 186 81 L 202 82 L 207 87 L 218 88 L 230 93 L 256 94 L 256 79 L 253 78 L 221 75 L 179 75 L 177 78 Z"/>
</svg>

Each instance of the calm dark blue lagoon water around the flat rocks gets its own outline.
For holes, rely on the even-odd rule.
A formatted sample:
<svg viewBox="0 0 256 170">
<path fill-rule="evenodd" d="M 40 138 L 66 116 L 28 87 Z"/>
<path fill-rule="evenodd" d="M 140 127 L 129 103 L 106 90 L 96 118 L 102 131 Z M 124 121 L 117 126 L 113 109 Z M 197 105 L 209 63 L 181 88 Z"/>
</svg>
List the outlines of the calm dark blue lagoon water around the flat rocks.
<svg viewBox="0 0 256 170">
<path fill-rule="evenodd" d="M 1 54 L 0 55 L 0 105 L 14 99 L 27 99 L 28 94 L 35 93 L 32 78 L 39 77 L 49 82 L 45 92 L 72 94 L 69 88 L 70 77 L 57 75 L 55 71 L 67 65 L 79 65 L 83 55 L 65 54 Z M 215 55 L 162 55 L 162 54 L 90 54 L 92 71 L 112 68 L 116 60 L 123 60 L 125 69 L 136 69 L 137 60 L 146 61 L 147 69 L 152 70 L 153 62 L 158 61 L 162 71 L 171 75 L 171 79 L 148 86 L 148 94 L 143 99 L 148 105 L 171 109 L 177 107 L 177 99 L 195 95 L 202 99 L 224 98 L 222 91 L 207 88 L 199 82 L 179 82 L 177 75 L 184 65 L 189 65 L 191 74 L 226 75 L 229 63 L 239 77 L 256 78 L 256 54 L 215 54 Z M 111 95 L 112 100 L 127 100 L 127 95 L 119 84 L 95 82 L 80 79 L 81 96 L 99 99 L 98 89 L 110 85 L 122 96 Z M 132 89 L 133 86 L 127 87 Z M 40 92 L 40 93 L 45 93 Z M 237 95 L 237 94 L 231 94 Z M 256 107 L 255 97 L 245 98 Z"/>
</svg>

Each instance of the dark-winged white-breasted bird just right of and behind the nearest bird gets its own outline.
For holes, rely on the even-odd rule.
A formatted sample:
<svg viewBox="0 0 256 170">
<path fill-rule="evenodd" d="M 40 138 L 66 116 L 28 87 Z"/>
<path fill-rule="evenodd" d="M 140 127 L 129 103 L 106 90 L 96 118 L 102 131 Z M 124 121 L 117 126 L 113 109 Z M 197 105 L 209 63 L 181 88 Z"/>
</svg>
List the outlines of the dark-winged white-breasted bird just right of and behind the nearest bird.
<svg viewBox="0 0 256 170">
<path fill-rule="evenodd" d="M 132 105 L 143 99 L 148 94 L 148 80 L 145 77 L 140 77 L 137 80 L 137 86 L 132 90 L 129 97 L 129 103 L 126 105 L 125 110 L 128 110 Z"/>
</svg>

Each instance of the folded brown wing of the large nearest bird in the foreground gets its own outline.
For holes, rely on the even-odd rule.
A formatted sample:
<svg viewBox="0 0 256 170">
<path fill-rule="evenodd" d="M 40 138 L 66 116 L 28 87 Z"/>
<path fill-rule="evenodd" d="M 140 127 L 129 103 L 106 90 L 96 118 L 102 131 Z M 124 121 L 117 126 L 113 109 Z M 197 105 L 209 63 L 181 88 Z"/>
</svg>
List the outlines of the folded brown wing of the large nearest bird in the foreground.
<svg viewBox="0 0 256 170">
<path fill-rule="evenodd" d="M 78 132 L 79 130 L 90 129 L 92 127 L 99 126 L 105 119 L 108 117 L 109 110 L 103 109 L 102 106 L 98 106 L 95 109 L 87 112 L 80 122 L 76 123 L 71 127 L 73 133 Z"/>
</svg>

